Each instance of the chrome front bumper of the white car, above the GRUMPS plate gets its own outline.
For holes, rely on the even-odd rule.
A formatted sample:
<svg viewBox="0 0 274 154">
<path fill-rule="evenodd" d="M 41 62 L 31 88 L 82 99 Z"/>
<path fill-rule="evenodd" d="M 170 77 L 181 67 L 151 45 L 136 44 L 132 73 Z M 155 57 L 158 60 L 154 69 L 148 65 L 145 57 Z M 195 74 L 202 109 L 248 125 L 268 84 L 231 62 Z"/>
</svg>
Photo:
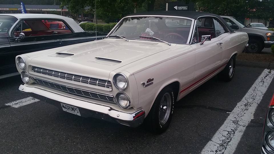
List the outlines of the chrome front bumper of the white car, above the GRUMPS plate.
<svg viewBox="0 0 274 154">
<path fill-rule="evenodd" d="M 24 84 L 19 86 L 19 90 L 33 98 L 53 104 L 62 110 L 60 103 L 68 104 L 79 108 L 81 116 L 94 117 L 106 121 L 118 122 L 130 127 L 138 127 L 144 121 L 144 110 L 138 110 L 133 113 L 125 113 L 114 110 L 108 106 L 102 106 L 91 102 L 86 102 L 74 98 L 69 98 L 34 87 L 28 87 Z"/>
</svg>

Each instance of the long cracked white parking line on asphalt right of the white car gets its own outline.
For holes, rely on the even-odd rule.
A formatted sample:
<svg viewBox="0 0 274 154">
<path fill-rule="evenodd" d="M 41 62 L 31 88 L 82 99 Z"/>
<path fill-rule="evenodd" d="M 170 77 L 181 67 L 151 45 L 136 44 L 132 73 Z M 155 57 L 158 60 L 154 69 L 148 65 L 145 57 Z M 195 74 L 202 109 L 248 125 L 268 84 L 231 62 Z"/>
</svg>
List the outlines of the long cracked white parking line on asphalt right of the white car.
<svg viewBox="0 0 274 154">
<path fill-rule="evenodd" d="M 223 125 L 204 147 L 202 154 L 234 153 L 246 126 L 254 118 L 254 112 L 273 77 L 274 70 L 265 69 L 261 73 L 242 100 L 229 114 Z"/>
</svg>

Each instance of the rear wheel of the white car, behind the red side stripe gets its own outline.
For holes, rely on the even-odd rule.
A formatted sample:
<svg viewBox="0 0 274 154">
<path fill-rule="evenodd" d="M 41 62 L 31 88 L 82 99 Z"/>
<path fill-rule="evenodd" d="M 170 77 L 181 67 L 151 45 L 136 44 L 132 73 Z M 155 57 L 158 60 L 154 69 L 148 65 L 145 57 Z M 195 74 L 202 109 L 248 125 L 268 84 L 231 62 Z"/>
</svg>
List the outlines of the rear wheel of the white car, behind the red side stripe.
<svg viewBox="0 0 274 154">
<path fill-rule="evenodd" d="M 235 56 L 232 56 L 229 59 L 228 63 L 226 64 L 225 69 L 223 69 L 219 73 L 219 78 L 225 82 L 231 81 L 233 79 L 233 76 L 235 73 L 235 64 L 236 64 L 236 58 L 235 58 Z M 230 66 L 231 66 L 231 68 L 230 68 Z"/>
</svg>

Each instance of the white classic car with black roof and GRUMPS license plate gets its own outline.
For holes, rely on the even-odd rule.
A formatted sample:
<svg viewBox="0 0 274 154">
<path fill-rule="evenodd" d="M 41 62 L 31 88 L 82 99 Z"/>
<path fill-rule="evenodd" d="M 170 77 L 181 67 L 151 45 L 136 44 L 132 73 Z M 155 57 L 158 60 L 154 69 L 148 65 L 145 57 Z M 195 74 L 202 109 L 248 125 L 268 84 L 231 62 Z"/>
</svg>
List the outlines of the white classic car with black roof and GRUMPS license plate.
<svg viewBox="0 0 274 154">
<path fill-rule="evenodd" d="M 103 40 L 17 56 L 25 83 L 19 90 L 78 116 L 131 127 L 144 122 L 162 133 L 176 101 L 216 74 L 233 78 L 247 42 L 247 33 L 214 14 L 133 14 Z"/>
</svg>

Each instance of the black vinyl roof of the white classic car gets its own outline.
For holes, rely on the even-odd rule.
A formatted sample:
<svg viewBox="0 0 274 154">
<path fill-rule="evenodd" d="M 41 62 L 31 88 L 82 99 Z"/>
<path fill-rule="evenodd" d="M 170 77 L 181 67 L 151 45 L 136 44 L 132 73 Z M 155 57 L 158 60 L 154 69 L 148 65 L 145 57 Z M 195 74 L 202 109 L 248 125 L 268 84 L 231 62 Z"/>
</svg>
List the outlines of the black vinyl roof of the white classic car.
<svg viewBox="0 0 274 154">
<path fill-rule="evenodd" d="M 178 17 L 187 17 L 191 19 L 198 19 L 201 16 L 213 16 L 219 18 L 227 27 L 227 29 L 232 32 L 233 30 L 229 27 L 229 25 L 225 22 L 225 20 L 220 17 L 219 15 L 215 15 L 213 13 L 207 12 L 198 12 L 198 11 L 149 11 L 149 12 L 140 12 L 140 13 L 133 13 L 127 16 L 133 15 L 168 15 L 168 16 L 178 16 Z"/>
</svg>

